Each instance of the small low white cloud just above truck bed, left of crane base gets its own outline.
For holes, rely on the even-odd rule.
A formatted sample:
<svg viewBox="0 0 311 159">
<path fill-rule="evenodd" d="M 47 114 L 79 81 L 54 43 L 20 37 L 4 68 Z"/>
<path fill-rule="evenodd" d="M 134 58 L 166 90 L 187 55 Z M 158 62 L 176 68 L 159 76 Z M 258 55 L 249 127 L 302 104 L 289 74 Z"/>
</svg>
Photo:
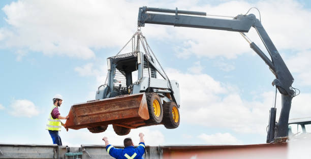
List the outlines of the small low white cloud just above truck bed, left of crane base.
<svg viewBox="0 0 311 159">
<path fill-rule="evenodd" d="M 224 134 L 216 133 L 212 135 L 201 134 L 198 136 L 198 138 L 204 140 L 206 144 L 216 144 L 216 145 L 221 145 L 221 144 L 240 145 L 242 144 L 241 141 L 236 139 L 230 133 L 224 133 Z"/>
</svg>

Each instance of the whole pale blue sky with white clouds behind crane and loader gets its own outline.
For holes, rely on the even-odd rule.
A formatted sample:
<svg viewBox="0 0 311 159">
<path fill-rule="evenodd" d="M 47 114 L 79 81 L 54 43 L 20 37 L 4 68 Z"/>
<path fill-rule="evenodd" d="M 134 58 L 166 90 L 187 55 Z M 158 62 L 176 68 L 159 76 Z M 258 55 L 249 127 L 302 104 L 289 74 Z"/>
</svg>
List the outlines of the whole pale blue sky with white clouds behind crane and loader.
<svg viewBox="0 0 311 159">
<path fill-rule="evenodd" d="M 61 115 L 95 98 L 106 77 L 106 58 L 115 55 L 137 29 L 142 6 L 236 16 L 250 7 L 292 72 L 291 118 L 311 116 L 311 6 L 308 1 L 1 1 L 0 143 L 50 144 L 46 118 L 55 94 L 64 97 Z M 258 12 L 251 13 L 258 17 Z M 150 47 L 170 79 L 180 84 L 180 126 L 132 130 L 147 145 L 265 143 L 273 104 L 273 74 L 238 34 L 229 31 L 146 24 Z M 255 30 L 247 34 L 265 51 Z M 266 52 L 266 51 L 265 51 Z M 279 114 L 281 96 L 277 95 Z M 101 134 L 86 129 L 60 132 L 63 143 L 121 145 L 112 126 Z"/>
</svg>

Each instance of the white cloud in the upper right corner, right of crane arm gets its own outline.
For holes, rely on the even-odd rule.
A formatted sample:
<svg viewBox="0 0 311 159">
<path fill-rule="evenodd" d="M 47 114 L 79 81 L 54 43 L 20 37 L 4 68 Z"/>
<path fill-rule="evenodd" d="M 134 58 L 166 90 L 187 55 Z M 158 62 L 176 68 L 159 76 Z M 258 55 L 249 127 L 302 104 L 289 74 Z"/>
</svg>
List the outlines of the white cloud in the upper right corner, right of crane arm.
<svg viewBox="0 0 311 159">
<path fill-rule="evenodd" d="M 259 1 L 262 23 L 270 38 L 278 49 L 306 50 L 311 41 L 306 35 L 311 35 L 307 20 L 311 11 L 297 1 Z M 297 16 L 299 15 L 299 16 Z M 286 18 L 285 18 L 286 17 Z M 290 19 L 290 23 L 288 20 Z M 279 24 L 285 24 L 284 27 Z M 297 25 L 299 24 L 299 25 Z M 295 31 L 289 31 L 295 30 Z"/>
</svg>

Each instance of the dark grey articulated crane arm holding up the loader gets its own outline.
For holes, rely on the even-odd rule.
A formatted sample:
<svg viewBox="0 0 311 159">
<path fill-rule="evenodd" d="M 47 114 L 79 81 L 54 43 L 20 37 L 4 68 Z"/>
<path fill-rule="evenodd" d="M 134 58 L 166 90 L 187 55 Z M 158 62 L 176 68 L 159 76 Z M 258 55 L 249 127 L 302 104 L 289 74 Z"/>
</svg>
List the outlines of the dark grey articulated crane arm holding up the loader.
<svg viewBox="0 0 311 159">
<path fill-rule="evenodd" d="M 172 14 L 155 14 L 150 12 L 174 13 Z M 180 15 L 185 14 L 185 15 Z M 266 62 L 271 72 L 276 79 L 273 80 L 272 85 L 275 85 L 278 91 L 282 94 L 282 110 L 279 116 L 278 123 L 275 123 L 276 108 L 271 108 L 269 118 L 269 129 L 267 134 L 267 143 L 275 142 L 279 139 L 284 139 L 288 135 L 288 119 L 291 109 L 292 98 L 295 96 L 295 91 L 292 89 L 294 78 L 288 70 L 281 55 L 276 50 L 274 44 L 263 28 L 260 20 L 254 14 L 237 15 L 233 19 L 218 19 L 207 18 L 205 12 L 181 11 L 159 8 L 139 8 L 138 26 L 145 26 L 145 23 L 173 25 L 182 27 L 196 27 L 206 29 L 217 29 L 227 31 L 237 31 L 250 43 L 251 48 Z M 260 48 L 251 42 L 244 33 L 254 27 L 265 45 L 271 60 L 260 50 Z"/>
</svg>

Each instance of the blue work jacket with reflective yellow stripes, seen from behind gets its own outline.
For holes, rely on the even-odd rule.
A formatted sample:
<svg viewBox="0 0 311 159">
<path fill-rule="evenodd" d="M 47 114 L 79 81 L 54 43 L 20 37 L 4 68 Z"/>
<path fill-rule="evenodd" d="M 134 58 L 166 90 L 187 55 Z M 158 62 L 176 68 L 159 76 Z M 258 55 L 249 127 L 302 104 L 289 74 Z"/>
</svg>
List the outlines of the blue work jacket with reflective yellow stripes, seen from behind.
<svg viewBox="0 0 311 159">
<path fill-rule="evenodd" d="M 108 154 L 116 159 L 140 159 L 145 153 L 145 143 L 139 143 L 138 147 L 128 146 L 124 149 L 114 148 L 112 145 L 107 145 Z"/>
</svg>

